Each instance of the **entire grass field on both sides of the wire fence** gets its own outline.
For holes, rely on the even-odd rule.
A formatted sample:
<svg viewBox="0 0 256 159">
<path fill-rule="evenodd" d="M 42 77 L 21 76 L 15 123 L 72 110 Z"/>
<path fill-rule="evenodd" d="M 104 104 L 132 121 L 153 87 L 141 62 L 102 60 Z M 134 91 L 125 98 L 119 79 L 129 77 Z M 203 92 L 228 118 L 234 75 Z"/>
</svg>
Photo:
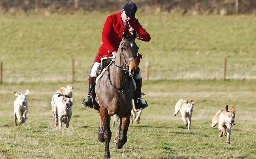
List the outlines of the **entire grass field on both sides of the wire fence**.
<svg viewBox="0 0 256 159">
<path fill-rule="evenodd" d="M 0 15 L 0 61 L 4 63 L 0 158 L 103 158 L 104 144 L 97 139 L 98 112 L 81 106 L 81 101 L 109 14 Z M 256 158 L 256 17 L 136 16 L 152 39 L 136 41 L 139 52 L 149 59 L 150 80 L 143 85 L 149 107 L 140 124 L 130 125 L 121 150 L 112 144 L 116 128 L 111 128 L 111 158 Z M 225 57 L 229 80 L 222 81 Z M 58 88 L 70 83 L 72 58 L 73 116 L 70 127 L 61 131 L 53 127 L 50 101 Z M 143 59 L 143 77 L 144 66 Z M 26 89 L 30 90 L 28 120 L 13 127 L 13 92 Z M 173 117 L 181 98 L 195 101 L 190 132 L 180 114 Z M 226 104 L 236 108 L 231 144 L 210 126 Z"/>
</svg>

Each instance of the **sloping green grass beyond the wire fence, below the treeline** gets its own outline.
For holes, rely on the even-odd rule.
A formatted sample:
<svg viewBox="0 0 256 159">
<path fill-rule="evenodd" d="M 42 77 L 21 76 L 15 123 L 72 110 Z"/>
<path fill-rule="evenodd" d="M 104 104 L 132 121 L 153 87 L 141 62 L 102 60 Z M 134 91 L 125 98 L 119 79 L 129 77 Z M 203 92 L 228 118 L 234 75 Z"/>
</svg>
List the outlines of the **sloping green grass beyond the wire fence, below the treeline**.
<svg viewBox="0 0 256 159">
<path fill-rule="evenodd" d="M 86 81 L 101 46 L 107 15 L 4 14 L 0 16 L 0 61 L 4 82 Z M 136 14 L 151 42 L 136 41 L 149 59 L 149 78 L 220 79 L 227 57 L 227 78 L 255 79 L 256 17 Z"/>
</svg>

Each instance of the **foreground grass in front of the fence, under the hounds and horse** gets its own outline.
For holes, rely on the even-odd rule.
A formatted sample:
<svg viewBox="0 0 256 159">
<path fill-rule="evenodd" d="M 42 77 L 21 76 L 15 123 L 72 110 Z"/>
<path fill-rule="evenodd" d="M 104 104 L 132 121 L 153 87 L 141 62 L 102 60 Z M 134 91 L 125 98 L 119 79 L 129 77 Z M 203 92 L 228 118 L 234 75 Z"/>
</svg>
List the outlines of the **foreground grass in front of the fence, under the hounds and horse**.
<svg viewBox="0 0 256 159">
<path fill-rule="evenodd" d="M 113 145 L 116 127 L 111 128 L 111 158 L 255 158 L 255 84 L 255 80 L 145 81 L 143 91 L 149 108 L 142 113 L 140 124 L 130 124 L 128 141 L 121 150 Z M 63 85 L 0 85 L 0 158 L 103 158 L 105 145 L 97 140 L 98 112 L 80 104 L 87 82 L 74 83 L 70 127 L 62 131 L 53 127 L 50 101 Z M 13 127 L 13 91 L 24 93 L 26 89 L 30 89 L 28 120 Z M 180 98 L 195 101 L 190 132 L 180 114 L 172 116 Z M 231 144 L 210 126 L 212 117 L 226 104 L 236 108 Z"/>
</svg>

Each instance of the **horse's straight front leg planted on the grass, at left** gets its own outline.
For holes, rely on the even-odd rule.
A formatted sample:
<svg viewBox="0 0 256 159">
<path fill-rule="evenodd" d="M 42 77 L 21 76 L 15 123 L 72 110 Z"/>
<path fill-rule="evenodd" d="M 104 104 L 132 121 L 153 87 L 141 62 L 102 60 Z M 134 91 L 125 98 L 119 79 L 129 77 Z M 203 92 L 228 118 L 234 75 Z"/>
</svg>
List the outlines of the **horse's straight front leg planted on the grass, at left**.
<svg viewBox="0 0 256 159">
<path fill-rule="evenodd" d="M 108 115 L 108 111 L 103 106 L 100 107 L 100 116 L 101 116 L 101 123 L 104 132 L 104 141 L 105 141 L 105 158 L 110 158 L 110 151 L 109 151 L 109 142 L 111 139 L 111 131 L 110 131 L 110 116 Z"/>
</svg>

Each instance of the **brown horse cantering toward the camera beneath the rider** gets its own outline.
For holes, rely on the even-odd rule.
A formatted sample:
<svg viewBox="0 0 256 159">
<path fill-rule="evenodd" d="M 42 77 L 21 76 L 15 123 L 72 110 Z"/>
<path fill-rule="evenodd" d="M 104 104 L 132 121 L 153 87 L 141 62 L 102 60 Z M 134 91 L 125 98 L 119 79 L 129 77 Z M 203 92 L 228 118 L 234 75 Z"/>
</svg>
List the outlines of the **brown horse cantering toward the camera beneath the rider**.
<svg viewBox="0 0 256 159">
<path fill-rule="evenodd" d="M 98 103 L 94 103 L 94 109 L 97 109 L 100 114 L 98 140 L 105 142 L 105 158 L 110 158 L 109 143 L 112 134 L 110 116 L 114 114 L 119 116 L 114 141 L 115 147 L 121 149 L 127 141 L 134 93 L 132 77 L 139 73 L 136 60 L 138 47 L 134 41 L 136 31 L 134 31 L 132 38 L 127 35 L 128 30 L 124 32 L 114 63 L 108 67 L 95 86 Z"/>
</svg>

